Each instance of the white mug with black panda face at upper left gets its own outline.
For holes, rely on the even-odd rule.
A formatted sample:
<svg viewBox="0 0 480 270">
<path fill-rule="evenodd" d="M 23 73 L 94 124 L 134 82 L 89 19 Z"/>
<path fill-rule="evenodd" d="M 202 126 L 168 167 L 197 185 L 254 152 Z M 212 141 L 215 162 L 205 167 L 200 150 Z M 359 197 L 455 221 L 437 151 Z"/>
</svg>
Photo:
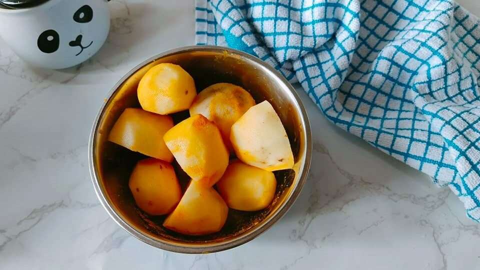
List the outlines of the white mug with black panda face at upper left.
<svg viewBox="0 0 480 270">
<path fill-rule="evenodd" d="M 74 66 L 105 42 L 110 28 L 107 1 L 0 0 L 0 36 L 33 66 Z"/>
</svg>

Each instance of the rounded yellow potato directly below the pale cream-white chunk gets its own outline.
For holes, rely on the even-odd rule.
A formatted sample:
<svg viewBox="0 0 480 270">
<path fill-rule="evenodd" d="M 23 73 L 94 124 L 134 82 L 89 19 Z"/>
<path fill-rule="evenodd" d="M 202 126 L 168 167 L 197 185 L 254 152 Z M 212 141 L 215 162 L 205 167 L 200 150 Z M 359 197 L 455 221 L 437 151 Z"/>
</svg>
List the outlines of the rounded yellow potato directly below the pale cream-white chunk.
<svg viewBox="0 0 480 270">
<path fill-rule="evenodd" d="M 232 161 L 216 183 L 218 192 L 228 207 L 242 211 L 257 211 L 273 200 L 276 179 L 273 172 Z"/>
</svg>

